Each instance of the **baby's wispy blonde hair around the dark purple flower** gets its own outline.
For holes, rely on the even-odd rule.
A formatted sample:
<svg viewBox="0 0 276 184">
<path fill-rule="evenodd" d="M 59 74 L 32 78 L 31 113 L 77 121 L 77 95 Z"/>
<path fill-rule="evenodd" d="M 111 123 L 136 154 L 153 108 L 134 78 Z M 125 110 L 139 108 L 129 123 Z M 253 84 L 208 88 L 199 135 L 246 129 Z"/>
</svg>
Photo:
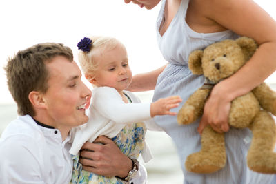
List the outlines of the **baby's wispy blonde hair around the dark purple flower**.
<svg viewBox="0 0 276 184">
<path fill-rule="evenodd" d="M 124 45 L 123 43 L 121 43 L 121 41 L 113 37 L 94 36 L 89 38 L 92 40 L 92 47 L 90 51 L 80 51 L 78 57 L 83 73 L 89 74 L 90 76 L 95 76 L 95 72 L 97 71 L 99 65 L 96 56 L 99 57 L 99 54 L 104 54 L 104 52 L 114 49 L 117 45 L 124 48 Z M 92 79 L 93 77 L 91 79 L 88 79 L 88 81 Z"/>
</svg>

